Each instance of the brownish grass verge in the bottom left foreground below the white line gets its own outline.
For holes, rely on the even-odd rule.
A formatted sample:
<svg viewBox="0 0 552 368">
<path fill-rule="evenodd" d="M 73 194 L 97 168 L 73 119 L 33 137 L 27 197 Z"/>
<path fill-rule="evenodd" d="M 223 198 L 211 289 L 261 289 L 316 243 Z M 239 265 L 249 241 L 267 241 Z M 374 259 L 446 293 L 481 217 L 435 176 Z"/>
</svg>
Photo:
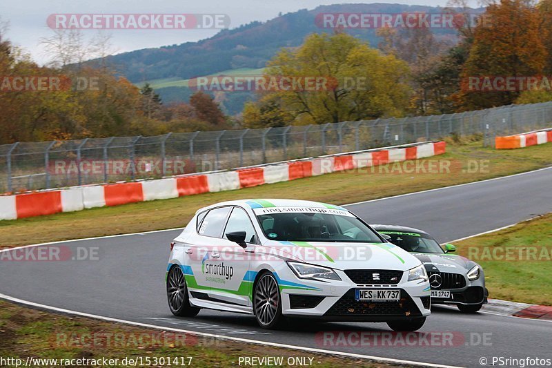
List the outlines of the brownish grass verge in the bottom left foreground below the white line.
<svg viewBox="0 0 552 368">
<path fill-rule="evenodd" d="M 288 357 L 313 358 L 313 367 L 388 367 L 388 365 L 347 358 L 311 354 L 293 349 L 265 347 L 243 342 L 213 340 L 195 336 L 142 329 L 119 323 L 101 322 L 87 318 L 74 318 L 19 307 L 0 300 L 0 356 L 2 358 L 27 357 L 50 359 L 115 359 L 146 357 L 152 364 L 143 367 L 168 367 L 153 364 L 154 358 L 191 357 L 191 367 L 236 367 L 239 357 Z M 93 338 L 93 339 L 92 339 Z M 308 360 L 307 360 L 308 361 Z M 174 362 L 171 360 L 171 362 Z M 51 365 L 32 365 L 50 367 Z M 59 365 L 57 365 L 59 367 Z M 71 365 L 93 367 L 92 365 Z M 174 367 L 175 365 L 172 364 Z M 181 365 L 180 365 L 181 366 Z M 134 367 L 111 365 L 101 367 Z M 260 366 L 266 367 L 266 366 Z"/>
</svg>

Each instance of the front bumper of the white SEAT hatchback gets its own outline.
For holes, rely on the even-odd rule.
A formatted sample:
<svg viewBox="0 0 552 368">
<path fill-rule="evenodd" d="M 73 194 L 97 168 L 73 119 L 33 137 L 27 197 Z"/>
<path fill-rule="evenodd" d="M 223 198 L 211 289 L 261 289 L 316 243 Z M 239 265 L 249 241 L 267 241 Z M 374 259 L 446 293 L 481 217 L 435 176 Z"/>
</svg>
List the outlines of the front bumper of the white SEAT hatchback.
<svg viewBox="0 0 552 368">
<path fill-rule="evenodd" d="M 327 321 L 359 322 L 411 320 L 431 313 L 428 282 L 408 282 L 408 275 L 404 273 L 397 284 L 355 284 L 343 271 L 336 272 L 342 281 L 300 280 L 317 289 L 282 289 L 282 313 Z M 355 289 L 400 289 L 400 300 L 357 301 Z"/>
</svg>

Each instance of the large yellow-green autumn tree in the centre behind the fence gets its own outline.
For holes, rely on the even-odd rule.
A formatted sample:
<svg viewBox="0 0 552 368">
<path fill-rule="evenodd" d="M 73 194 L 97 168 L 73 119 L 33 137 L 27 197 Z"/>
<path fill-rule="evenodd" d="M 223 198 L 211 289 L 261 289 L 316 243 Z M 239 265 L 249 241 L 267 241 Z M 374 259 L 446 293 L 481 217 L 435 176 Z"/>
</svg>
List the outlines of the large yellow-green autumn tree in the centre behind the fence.
<svg viewBox="0 0 552 368">
<path fill-rule="evenodd" d="M 408 105 L 411 89 L 408 66 L 344 32 L 313 34 L 295 49 L 281 50 L 265 70 L 265 79 L 325 81 L 317 88 L 305 85 L 268 90 L 257 106 L 248 105 L 244 117 L 258 115 L 269 126 L 325 124 L 399 116 Z M 302 79 L 303 78 L 303 79 Z M 250 123 L 248 123 L 250 125 Z"/>
</svg>

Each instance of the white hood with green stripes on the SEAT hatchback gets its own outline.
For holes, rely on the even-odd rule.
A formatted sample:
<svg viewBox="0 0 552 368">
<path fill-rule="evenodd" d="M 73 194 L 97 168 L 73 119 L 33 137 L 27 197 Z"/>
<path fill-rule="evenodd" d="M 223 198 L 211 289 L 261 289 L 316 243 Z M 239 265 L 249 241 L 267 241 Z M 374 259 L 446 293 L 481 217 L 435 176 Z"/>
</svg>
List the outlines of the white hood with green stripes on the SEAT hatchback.
<svg viewBox="0 0 552 368">
<path fill-rule="evenodd" d="M 391 243 L 279 242 L 264 244 L 288 260 L 333 269 L 395 269 L 408 271 L 420 260 Z"/>
</svg>

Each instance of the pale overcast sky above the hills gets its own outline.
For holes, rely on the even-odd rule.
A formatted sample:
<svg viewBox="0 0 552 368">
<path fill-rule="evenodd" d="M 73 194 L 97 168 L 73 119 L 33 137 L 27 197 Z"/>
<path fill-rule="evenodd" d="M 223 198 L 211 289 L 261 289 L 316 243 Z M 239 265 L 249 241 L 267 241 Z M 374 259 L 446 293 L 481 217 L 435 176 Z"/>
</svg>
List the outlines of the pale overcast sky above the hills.
<svg viewBox="0 0 552 368">
<path fill-rule="evenodd" d="M 210 13 L 228 14 L 230 28 L 250 21 L 266 21 L 277 17 L 279 12 L 294 12 L 299 9 L 313 9 L 319 5 L 333 3 L 355 3 L 364 1 L 339 0 L 3 0 L 0 1 L 0 17 L 9 22 L 8 38 L 22 46 L 35 61 L 43 64 L 48 56 L 39 46 L 41 37 L 52 35 L 46 26 L 50 14 L 151 14 L 151 13 Z M 373 1 L 379 3 L 404 3 L 408 5 L 446 6 L 446 0 L 401 0 Z M 474 4 L 475 5 L 475 4 Z M 83 30 L 85 36 L 92 36 L 95 30 Z M 114 50 L 125 52 L 141 48 L 198 41 L 215 35 L 217 30 L 110 30 Z"/>
</svg>

